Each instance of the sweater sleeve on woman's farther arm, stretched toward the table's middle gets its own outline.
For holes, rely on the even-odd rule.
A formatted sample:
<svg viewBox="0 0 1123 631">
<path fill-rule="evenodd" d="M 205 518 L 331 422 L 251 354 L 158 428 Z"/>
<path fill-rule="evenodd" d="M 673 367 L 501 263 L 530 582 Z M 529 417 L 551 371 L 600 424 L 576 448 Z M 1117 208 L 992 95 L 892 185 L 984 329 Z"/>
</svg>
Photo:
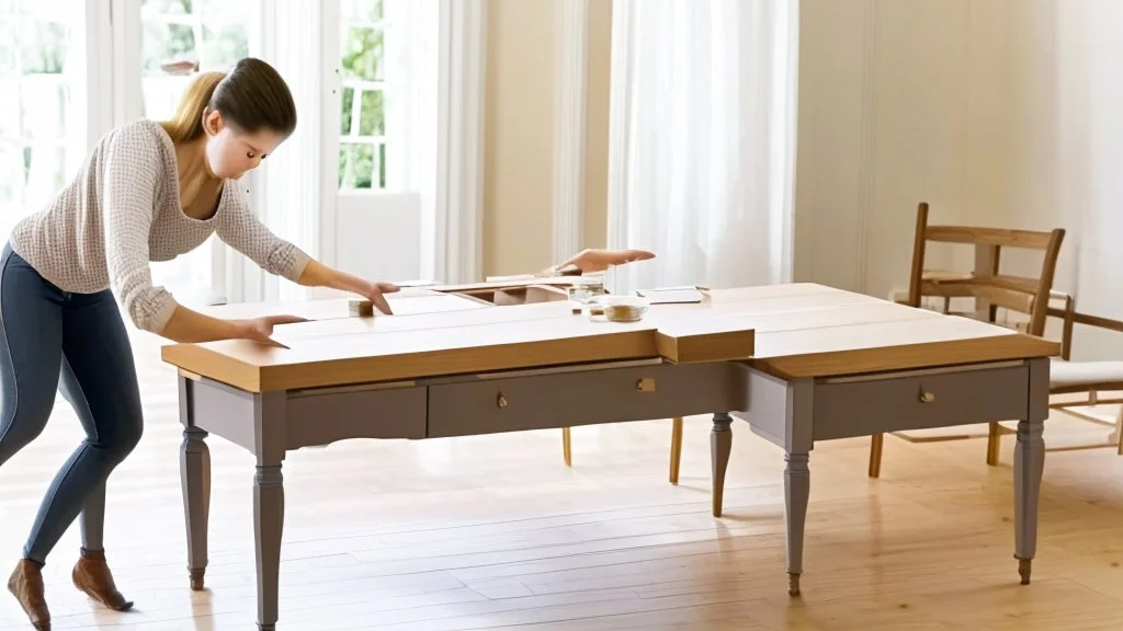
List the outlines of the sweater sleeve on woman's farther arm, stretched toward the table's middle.
<svg viewBox="0 0 1123 631">
<path fill-rule="evenodd" d="M 270 274 L 299 282 L 311 257 L 262 223 L 237 184 L 227 182 L 226 185 L 230 188 L 231 200 L 229 211 L 214 227 L 218 237 Z"/>
</svg>

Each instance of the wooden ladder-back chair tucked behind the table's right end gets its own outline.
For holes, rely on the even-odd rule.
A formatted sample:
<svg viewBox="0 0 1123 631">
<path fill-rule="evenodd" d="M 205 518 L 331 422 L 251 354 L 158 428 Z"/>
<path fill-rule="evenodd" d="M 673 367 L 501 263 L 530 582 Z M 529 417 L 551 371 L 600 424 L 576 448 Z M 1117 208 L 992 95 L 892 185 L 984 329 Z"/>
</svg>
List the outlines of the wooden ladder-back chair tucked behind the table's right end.
<svg viewBox="0 0 1123 631">
<path fill-rule="evenodd" d="M 925 296 L 941 298 L 946 313 L 1016 327 L 1028 335 L 1043 337 L 1049 316 L 1050 296 L 1052 295 L 1053 274 L 1057 268 L 1060 246 L 1065 239 L 1065 230 L 1058 228 L 1051 231 L 1030 231 L 973 226 L 930 226 L 928 216 L 928 203 L 921 203 L 916 210 L 909 298 L 902 302 L 910 307 L 921 308 Z M 973 245 L 975 247 L 974 269 L 967 273 L 926 269 L 924 255 L 929 243 Z M 1043 253 L 1040 275 L 1031 278 L 999 273 L 1003 248 L 1021 248 Z M 951 311 L 950 304 L 953 299 L 971 299 L 975 308 L 970 312 Z M 1023 314 L 1028 319 L 1021 322 L 998 320 L 999 309 L 1005 309 L 1014 314 Z M 986 435 L 988 465 L 998 464 L 1001 435 L 1010 431 L 999 423 L 990 423 Z M 935 438 L 913 438 L 904 433 L 894 433 L 894 436 L 911 442 L 982 438 L 970 435 Z M 869 477 L 880 475 L 884 439 L 884 435 L 875 435 L 871 438 Z"/>
</svg>

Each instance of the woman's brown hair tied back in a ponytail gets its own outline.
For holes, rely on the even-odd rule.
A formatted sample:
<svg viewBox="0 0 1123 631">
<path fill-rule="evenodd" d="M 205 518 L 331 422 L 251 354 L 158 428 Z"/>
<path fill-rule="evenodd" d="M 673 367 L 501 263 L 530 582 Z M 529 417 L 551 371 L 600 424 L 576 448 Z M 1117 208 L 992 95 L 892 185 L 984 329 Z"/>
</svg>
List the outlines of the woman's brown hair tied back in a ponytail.
<svg viewBox="0 0 1123 631">
<path fill-rule="evenodd" d="M 180 99 L 175 115 L 161 125 L 175 143 L 203 134 L 203 116 L 217 110 L 238 131 L 268 129 L 287 137 L 296 128 L 296 104 L 281 74 L 270 64 L 246 57 L 229 74 L 204 72 Z"/>
</svg>

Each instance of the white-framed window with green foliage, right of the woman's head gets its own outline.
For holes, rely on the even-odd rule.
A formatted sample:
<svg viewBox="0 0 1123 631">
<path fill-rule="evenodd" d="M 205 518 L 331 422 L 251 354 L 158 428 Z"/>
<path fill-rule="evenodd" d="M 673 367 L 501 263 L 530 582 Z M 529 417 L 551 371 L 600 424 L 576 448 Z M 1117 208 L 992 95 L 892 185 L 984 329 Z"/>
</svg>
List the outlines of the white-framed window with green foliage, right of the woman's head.
<svg viewBox="0 0 1123 631">
<path fill-rule="evenodd" d="M 438 52 L 444 2 L 329 0 L 323 254 L 367 277 L 421 276 L 438 185 Z M 338 170 L 338 171 L 337 171 Z"/>
</svg>

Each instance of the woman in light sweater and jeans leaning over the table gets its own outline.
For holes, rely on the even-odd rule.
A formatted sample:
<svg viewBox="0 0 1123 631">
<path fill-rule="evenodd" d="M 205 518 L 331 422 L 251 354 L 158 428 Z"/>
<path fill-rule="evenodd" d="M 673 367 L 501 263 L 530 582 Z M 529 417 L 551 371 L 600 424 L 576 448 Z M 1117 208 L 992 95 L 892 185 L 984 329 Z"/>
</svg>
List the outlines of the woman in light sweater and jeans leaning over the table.
<svg viewBox="0 0 1123 631">
<path fill-rule="evenodd" d="M 274 326 L 298 320 L 222 320 L 191 311 L 153 286 L 149 262 L 217 234 L 272 274 L 348 291 L 390 313 L 383 294 L 395 285 L 309 258 L 255 218 L 234 182 L 295 127 L 280 74 L 243 60 L 228 75 L 195 80 L 172 120 L 138 120 L 107 134 L 54 202 L 12 230 L 0 256 L 0 465 L 43 431 L 56 390 L 86 432 L 51 484 L 8 582 L 36 629 L 51 628 L 40 569 L 79 513 L 83 546 L 74 585 L 117 611 L 133 606 L 113 584 L 101 542 L 106 479 L 144 426 L 115 296 L 137 328 L 179 342 L 268 344 Z"/>
</svg>

